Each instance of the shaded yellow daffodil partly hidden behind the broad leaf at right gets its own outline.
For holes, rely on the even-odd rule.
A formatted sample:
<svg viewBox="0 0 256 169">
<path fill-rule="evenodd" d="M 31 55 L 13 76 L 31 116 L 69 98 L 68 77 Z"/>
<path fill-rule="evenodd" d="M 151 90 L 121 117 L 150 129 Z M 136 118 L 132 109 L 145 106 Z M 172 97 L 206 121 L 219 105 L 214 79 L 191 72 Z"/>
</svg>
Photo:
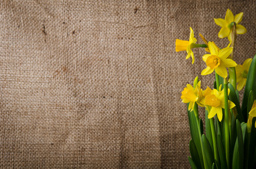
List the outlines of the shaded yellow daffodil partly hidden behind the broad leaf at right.
<svg viewBox="0 0 256 169">
<path fill-rule="evenodd" d="M 253 61 L 253 59 L 246 59 L 244 64 L 236 66 L 236 80 L 238 82 L 237 84 L 238 91 L 242 90 L 242 88 L 245 87 L 247 74 L 250 68 L 251 61 Z"/>
</svg>

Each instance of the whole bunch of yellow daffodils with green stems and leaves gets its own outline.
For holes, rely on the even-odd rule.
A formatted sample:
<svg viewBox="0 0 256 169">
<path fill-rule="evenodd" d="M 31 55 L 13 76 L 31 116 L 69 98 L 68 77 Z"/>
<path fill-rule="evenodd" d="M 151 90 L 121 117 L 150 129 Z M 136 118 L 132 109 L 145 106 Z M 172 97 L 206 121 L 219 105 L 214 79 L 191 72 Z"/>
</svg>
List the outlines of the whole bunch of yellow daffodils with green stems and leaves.
<svg viewBox="0 0 256 169">
<path fill-rule="evenodd" d="M 227 37 L 230 42 L 224 48 L 206 41 L 202 34 L 199 36 L 205 44 L 198 44 L 192 28 L 189 41 L 176 39 L 176 51 L 186 51 L 186 59 L 192 57 L 192 64 L 195 62 L 192 49 L 205 48 L 208 53 L 202 56 L 202 60 L 206 68 L 201 75 L 215 72 L 213 89 L 207 87 L 203 90 L 196 77 L 193 86 L 186 84 L 181 92 L 182 102 L 188 104 L 192 136 L 189 163 L 192 168 L 256 168 L 256 122 L 253 119 L 256 117 L 256 55 L 242 65 L 233 60 L 236 36 L 247 32 L 240 25 L 242 16 L 242 12 L 234 16 L 228 9 L 225 19 L 214 19 L 222 27 L 218 37 Z M 238 91 L 244 87 L 240 106 Z M 203 134 L 198 105 L 206 110 L 206 135 Z M 255 128 L 251 127 L 253 123 Z"/>
</svg>

